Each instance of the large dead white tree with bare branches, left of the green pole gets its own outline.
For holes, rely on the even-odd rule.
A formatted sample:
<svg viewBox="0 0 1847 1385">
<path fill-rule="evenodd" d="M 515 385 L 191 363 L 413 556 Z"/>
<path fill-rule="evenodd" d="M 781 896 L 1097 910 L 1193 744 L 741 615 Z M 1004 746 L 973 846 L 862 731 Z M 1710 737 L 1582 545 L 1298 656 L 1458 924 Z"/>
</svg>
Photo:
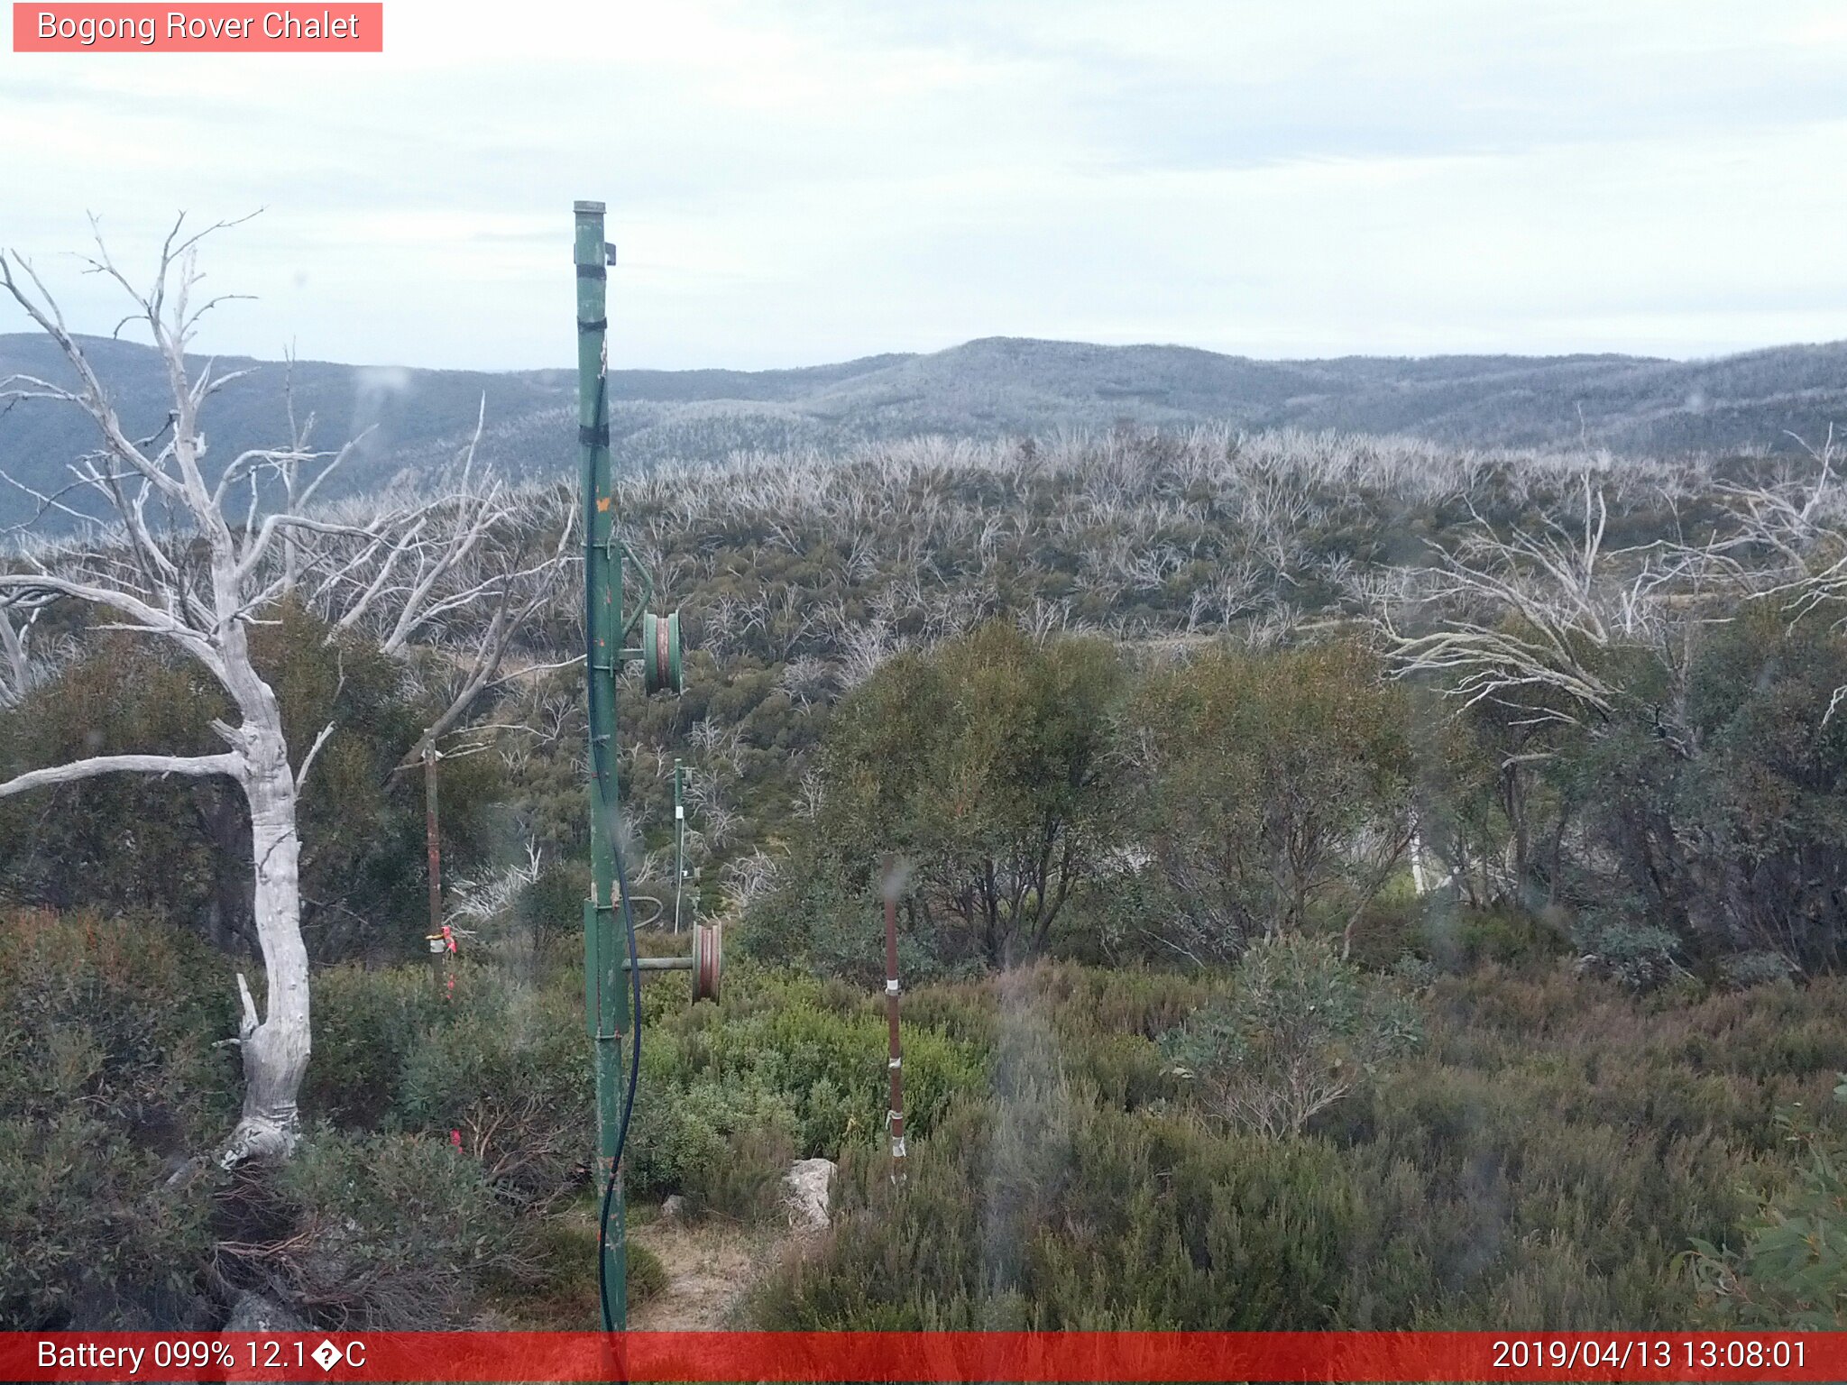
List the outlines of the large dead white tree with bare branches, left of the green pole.
<svg viewBox="0 0 1847 1385">
<path fill-rule="evenodd" d="M 244 371 L 220 375 L 211 364 L 194 371 L 187 360 L 199 318 L 223 299 L 198 301 L 203 277 L 198 244 L 220 227 L 185 235 L 183 223 L 185 218 L 175 222 L 161 246 L 150 288 L 137 288 L 115 266 L 100 236 L 96 255 L 87 260 L 92 273 L 127 294 L 133 310 L 122 325 L 151 332 L 166 373 L 170 416 L 142 440 L 126 430 L 109 390 L 31 264 L 13 251 L 0 253 L 0 288 L 52 338 L 70 375 L 68 382 L 9 377 L 0 380 L 0 401 L 52 401 L 91 419 L 102 447 L 70 465 L 70 489 L 100 500 L 105 515 L 81 543 L 22 548 L 0 563 L 0 611 L 17 617 L 48 600 L 81 602 L 107 617 L 105 630 L 135 632 L 190 656 L 216 680 L 235 720 L 212 722 L 225 746 L 218 753 L 94 755 L 7 779 L 0 796 L 105 774 L 223 776 L 242 790 L 251 822 L 253 921 L 266 995 L 259 1012 L 238 973 L 236 1043 L 246 1088 L 242 1119 L 220 1150 L 220 1162 L 231 1167 L 249 1158 L 286 1156 L 297 1139 L 296 1099 L 310 1053 L 297 803 L 316 755 L 334 731 L 332 724 L 321 728 L 305 752 L 288 744 L 275 691 L 251 661 L 249 626 L 297 584 L 351 591 L 347 578 L 369 563 L 368 582 L 347 598 L 334 624 L 351 626 L 366 613 L 392 608 L 393 633 L 414 632 L 432 619 L 438 604 L 432 593 L 441 585 L 440 576 L 423 578 L 454 569 L 449 554 L 471 543 L 484 512 L 480 504 L 464 506 L 451 523 L 440 523 L 434 506 L 375 510 L 364 523 L 308 512 L 307 502 L 347 451 L 308 451 L 299 432 L 288 445 L 209 465 L 201 408 Z M 303 469 L 314 471 L 305 484 Z M 277 493 L 283 502 L 266 508 Z M 393 582 L 392 574 L 404 571 L 419 580 Z M 480 585 L 441 600 L 456 609 L 465 600 L 488 600 L 493 591 Z M 17 639 L 17 619 L 7 620 L 7 630 Z M 13 641 L 6 644 L 11 657 Z"/>
</svg>

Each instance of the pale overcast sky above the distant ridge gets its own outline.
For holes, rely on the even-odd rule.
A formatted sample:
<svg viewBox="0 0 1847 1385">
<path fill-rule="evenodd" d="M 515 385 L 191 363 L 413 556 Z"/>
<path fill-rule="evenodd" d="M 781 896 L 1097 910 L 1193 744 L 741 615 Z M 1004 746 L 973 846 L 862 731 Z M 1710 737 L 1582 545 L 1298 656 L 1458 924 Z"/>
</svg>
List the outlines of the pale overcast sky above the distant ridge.
<svg viewBox="0 0 1847 1385">
<path fill-rule="evenodd" d="M 622 366 L 1847 338 L 1840 4 L 386 0 L 382 55 L 4 52 L 0 131 L 83 329 L 85 212 L 264 207 L 227 353 L 565 366 L 576 198 Z"/>
</svg>

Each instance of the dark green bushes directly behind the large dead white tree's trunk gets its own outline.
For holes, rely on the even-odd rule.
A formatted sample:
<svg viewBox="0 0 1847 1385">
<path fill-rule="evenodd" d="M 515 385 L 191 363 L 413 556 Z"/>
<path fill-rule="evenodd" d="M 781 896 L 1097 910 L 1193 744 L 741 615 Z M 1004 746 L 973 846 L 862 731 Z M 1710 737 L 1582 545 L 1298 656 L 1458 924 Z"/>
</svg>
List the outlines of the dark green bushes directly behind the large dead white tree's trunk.
<svg viewBox="0 0 1847 1385">
<path fill-rule="evenodd" d="M 393 776 L 447 702 L 438 678 L 356 633 L 332 635 L 284 602 L 251 626 L 251 657 L 275 689 L 292 746 L 336 722 L 301 805 L 303 940 L 316 960 L 403 957 L 421 929 L 421 776 Z M 434 705 L 432 705 L 434 704 Z M 0 777 L 83 755 L 209 753 L 223 692 L 159 643 L 94 632 L 54 680 L 0 717 Z M 445 763 L 445 864 L 486 849 L 495 755 Z M 249 816 L 229 779 L 118 774 L 0 801 L 0 899 L 57 909 L 148 910 L 214 945 L 255 951 L 247 886 Z"/>
</svg>

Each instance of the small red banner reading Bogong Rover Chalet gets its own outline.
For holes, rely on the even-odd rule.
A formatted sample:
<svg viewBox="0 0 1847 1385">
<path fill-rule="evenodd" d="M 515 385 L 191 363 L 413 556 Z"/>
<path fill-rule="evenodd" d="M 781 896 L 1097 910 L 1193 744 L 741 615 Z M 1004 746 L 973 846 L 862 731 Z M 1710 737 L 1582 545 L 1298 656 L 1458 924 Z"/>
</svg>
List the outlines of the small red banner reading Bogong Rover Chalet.
<svg viewBox="0 0 1847 1385">
<path fill-rule="evenodd" d="M 15 54 L 382 54 L 384 4 L 13 4 Z"/>
</svg>

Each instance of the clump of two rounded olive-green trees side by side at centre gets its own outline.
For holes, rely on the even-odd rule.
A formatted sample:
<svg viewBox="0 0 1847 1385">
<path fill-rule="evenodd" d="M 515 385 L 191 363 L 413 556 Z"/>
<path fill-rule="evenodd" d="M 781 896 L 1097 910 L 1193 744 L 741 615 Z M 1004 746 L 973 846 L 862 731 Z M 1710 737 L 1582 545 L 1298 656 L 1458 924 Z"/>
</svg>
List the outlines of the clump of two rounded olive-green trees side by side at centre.
<svg viewBox="0 0 1847 1385">
<path fill-rule="evenodd" d="M 1136 672 L 990 622 L 853 689 L 813 794 L 750 916 L 763 957 L 883 975 L 883 851 L 911 975 L 1047 947 L 1197 966 L 1328 927 L 1350 951 L 1413 840 L 1409 702 L 1352 643 Z"/>
</svg>

